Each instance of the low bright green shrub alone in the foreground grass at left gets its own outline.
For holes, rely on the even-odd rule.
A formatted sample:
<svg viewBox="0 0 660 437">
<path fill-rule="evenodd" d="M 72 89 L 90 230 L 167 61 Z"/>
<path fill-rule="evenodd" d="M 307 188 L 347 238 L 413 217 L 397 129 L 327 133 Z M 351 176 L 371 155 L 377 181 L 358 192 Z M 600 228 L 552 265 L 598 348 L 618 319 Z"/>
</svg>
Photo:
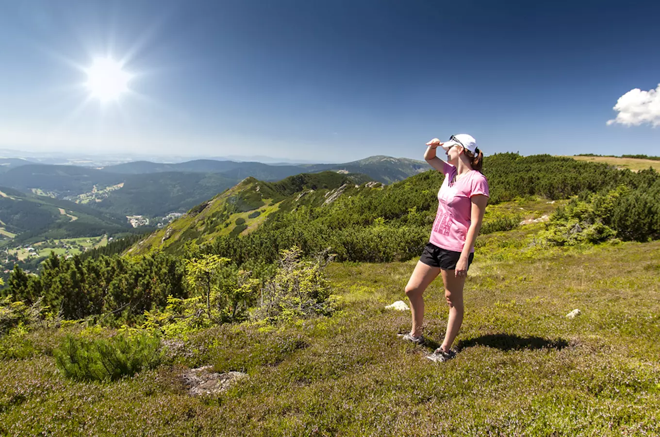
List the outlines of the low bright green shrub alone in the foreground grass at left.
<svg viewBox="0 0 660 437">
<path fill-rule="evenodd" d="M 63 374 L 79 381 L 118 380 L 154 368 L 162 360 L 160 339 L 144 333 L 108 340 L 67 335 L 53 354 Z"/>
</svg>

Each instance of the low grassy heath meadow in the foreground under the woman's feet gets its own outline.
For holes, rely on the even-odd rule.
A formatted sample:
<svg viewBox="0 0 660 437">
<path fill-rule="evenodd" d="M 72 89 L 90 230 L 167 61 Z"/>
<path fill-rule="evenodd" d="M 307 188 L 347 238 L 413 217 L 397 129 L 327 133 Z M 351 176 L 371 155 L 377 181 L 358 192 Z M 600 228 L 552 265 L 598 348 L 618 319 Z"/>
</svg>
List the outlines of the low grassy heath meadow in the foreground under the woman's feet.
<svg viewBox="0 0 660 437">
<path fill-rule="evenodd" d="M 55 366 L 67 332 L 1 337 L 0 434 L 121 436 L 651 436 L 660 434 L 660 242 L 548 248 L 530 224 L 479 239 L 458 354 L 424 356 L 444 336 L 438 280 L 424 347 L 397 333 L 416 260 L 331 263 L 341 310 L 279 325 L 244 322 L 183 338 L 154 370 L 76 382 Z M 579 309 L 575 319 L 566 314 Z M 191 397 L 181 374 L 247 372 Z"/>
</svg>

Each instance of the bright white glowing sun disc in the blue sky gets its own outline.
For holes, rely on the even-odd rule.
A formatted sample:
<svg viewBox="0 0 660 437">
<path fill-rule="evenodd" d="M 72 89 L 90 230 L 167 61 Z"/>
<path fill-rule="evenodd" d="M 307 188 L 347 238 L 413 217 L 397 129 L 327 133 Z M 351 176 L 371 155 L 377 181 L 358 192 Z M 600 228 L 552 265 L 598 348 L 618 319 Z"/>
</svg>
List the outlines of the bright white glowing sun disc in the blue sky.
<svg viewBox="0 0 660 437">
<path fill-rule="evenodd" d="M 90 97 L 101 102 L 119 100 L 121 94 L 129 90 L 131 75 L 122 69 L 123 65 L 110 57 L 98 57 L 85 69 L 86 87 Z"/>
</svg>

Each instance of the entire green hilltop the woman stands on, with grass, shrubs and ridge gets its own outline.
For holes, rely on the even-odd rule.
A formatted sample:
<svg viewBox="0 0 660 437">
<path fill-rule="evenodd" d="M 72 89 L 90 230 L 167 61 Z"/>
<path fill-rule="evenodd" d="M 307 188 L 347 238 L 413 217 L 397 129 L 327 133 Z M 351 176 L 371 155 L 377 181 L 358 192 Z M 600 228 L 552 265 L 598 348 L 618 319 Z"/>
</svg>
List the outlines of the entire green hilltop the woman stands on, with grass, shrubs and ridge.
<svg viewBox="0 0 660 437">
<path fill-rule="evenodd" d="M 548 155 L 485 169 L 455 359 L 424 358 L 442 281 L 424 347 L 385 309 L 407 300 L 442 176 L 248 178 L 128 255 L 12 273 L 0 435 L 660 435 L 660 176 Z M 193 396 L 201 366 L 242 378 Z"/>
</svg>

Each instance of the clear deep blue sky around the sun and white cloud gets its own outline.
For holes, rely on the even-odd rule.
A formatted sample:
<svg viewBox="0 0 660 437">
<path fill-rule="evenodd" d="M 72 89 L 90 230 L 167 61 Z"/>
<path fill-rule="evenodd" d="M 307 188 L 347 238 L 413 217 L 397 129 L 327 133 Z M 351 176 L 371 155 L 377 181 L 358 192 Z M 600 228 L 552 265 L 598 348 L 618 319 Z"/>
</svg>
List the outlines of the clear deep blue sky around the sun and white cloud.
<svg viewBox="0 0 660 437">
<path fill-rule="evenodd" d="M 346 162 L 421 159 L 428 139 L 471 133 L 487 154 L 660 154 L 657 1 L 0 0 L 0 11 L 3 149 Z M 84 86 L 105 56 L 133 75 L 116 102 Z"/>
</svg>

